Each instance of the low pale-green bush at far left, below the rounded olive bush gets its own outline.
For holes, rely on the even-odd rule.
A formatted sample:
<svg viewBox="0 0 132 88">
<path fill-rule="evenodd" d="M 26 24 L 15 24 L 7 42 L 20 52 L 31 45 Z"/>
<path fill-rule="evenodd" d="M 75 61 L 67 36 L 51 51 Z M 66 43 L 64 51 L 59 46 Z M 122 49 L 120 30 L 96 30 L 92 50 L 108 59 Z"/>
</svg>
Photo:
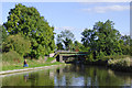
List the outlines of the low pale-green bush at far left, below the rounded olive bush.
<svg viewBox="0 0 132 88">
<path fill-rule="evenodd" d="M 4 62 L 20 62 L 21 59 L 22 57 L 15 51 L 2 54 L 2 61 Z"/>
</svg>

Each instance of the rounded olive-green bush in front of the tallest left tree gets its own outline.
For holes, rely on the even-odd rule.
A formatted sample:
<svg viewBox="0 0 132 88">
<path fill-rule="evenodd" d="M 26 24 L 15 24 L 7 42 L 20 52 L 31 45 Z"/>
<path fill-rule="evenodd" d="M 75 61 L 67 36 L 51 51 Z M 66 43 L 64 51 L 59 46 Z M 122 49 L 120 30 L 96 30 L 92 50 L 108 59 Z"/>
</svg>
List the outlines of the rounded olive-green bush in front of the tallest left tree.
<svg viewBox="0 0 132 88">
<path fill-rule="evenodd" d="M 30 53 L 30 47 L 31 47 L 30 41 L 16 34 L 7 37 L 7 40 L 3 42 L 2 50 L 3 52 L 9 52 L 12 50 L 19 53 L 21 56 L 23 56 L 26 53 Z"/>
</svg>

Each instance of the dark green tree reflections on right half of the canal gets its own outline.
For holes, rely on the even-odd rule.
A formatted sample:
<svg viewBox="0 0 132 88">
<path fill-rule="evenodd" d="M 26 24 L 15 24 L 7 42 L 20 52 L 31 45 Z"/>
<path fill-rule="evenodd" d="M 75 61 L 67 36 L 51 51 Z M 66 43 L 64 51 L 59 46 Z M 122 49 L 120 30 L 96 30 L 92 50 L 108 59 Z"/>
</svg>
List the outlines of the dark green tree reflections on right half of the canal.
<svg viewBox="0 0 132 88">
<path fill-rule="evenodd" d="M 62 76 L 65 76 L 65 84 L 68 86 L 73 84 L 74 77 L 84 77 L 85 86 L 121 86 L 124 85 L 127 80 L 130 80 L 116 75 L 110 69 L 108 70 L 107 68 L 99 66 L 73 65 L 66 66 L 63 69 Z M 125 76 L 128 75 L 125 74 Z M 128 78 L 131 77 L 132 76 L 128 76 Z M 62 79 L 62 77 L 59 77 L 59 79 Z"/>
</svg>

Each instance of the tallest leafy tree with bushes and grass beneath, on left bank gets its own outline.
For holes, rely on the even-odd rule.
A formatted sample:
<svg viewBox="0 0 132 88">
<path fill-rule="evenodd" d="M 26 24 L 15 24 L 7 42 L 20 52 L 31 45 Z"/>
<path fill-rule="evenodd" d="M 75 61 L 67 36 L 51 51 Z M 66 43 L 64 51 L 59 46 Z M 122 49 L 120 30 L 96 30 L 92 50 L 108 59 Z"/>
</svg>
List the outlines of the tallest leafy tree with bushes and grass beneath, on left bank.
<svg viewBox="0 0 132 88">
<path fill-rule="evenodd" d="M 54 26 L 35 8 L 15 4 L 0 31 L 3 70 L 23 68 L 23 58 L 29 67 L 52 65 L 44 58 L 55 50 Z"/>
</svg>

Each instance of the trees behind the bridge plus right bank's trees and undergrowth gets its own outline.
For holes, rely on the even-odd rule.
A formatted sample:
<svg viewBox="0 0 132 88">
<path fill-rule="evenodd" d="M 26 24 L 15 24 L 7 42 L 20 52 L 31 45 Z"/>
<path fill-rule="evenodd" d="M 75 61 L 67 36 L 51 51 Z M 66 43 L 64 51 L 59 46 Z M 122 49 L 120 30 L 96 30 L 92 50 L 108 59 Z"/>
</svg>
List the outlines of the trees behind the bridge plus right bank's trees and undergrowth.
<svg viewBox="0 0 132 88">
<path fill-rule="evenodd" d="M 73 41 L 74 34 L 70 31 L 61 32 L 57 36 L 58 50 L 87 52 L 85 64 L 107 65 L 116 67 L 118 70 L 120 68 L 121 70 L 132 69 L 132 50 L 130 48 L 132 40 L 130 35 L 121 35 L 114 29 L 112 21 L 99 21 L 94 25 L 94 29 L 85 29 L 81 35 L 81 43 L 79 43 Z"/>
</svg>

